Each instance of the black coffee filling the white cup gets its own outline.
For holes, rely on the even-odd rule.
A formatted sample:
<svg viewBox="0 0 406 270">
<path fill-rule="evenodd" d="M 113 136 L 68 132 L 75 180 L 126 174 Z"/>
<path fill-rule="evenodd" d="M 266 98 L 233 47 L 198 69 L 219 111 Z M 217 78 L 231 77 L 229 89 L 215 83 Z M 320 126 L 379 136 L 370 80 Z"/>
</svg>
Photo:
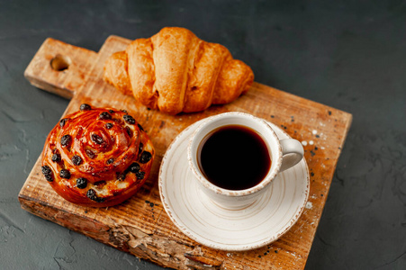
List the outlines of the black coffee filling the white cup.
<svg viewBox="0 0 406 270">
<path fill-rule="evenodd" d="M 259 184 L 271 167 L 264 139 L 240 125 L 223 126 L 208 134 L 199 146 L 197 160 L 212 184 L 229 190 Z"/>
</svg>

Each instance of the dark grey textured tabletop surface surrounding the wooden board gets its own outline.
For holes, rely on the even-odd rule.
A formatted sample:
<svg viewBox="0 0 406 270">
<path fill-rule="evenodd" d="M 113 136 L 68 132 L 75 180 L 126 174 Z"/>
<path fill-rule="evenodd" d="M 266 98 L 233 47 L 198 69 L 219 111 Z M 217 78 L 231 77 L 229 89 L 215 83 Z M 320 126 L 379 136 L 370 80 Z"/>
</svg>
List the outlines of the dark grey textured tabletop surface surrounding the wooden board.
<svg viewBox="0 0 406 270">
<path fill-rule="evenodd" d="M 159 268 L 20 209 L 68 104 L 23 71 L 48 37 L 97 51 L 111 34 L 183 26 L 229 48 L 257 82 L 353 113 L 306 269 L 405 269 L 406 3 L 351 3 L 0 1 L 0 268 Z"/>
</svg>

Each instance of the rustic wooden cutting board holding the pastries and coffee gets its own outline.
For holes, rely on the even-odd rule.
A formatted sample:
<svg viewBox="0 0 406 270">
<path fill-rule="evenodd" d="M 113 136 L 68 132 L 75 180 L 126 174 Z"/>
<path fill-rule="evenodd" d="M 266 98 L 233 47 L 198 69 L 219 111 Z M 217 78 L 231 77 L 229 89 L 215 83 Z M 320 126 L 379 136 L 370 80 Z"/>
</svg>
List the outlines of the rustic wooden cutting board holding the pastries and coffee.
<svg viewBox="0 0 406 270">
<path fill-rule="evenodd" d="M 151 175 L 129 201 L 109 208 L 80 207 L 63 200 L 41 175 L 37 160 L 19 194 L 24 210 L 112 247 L 177 269 L 303 269 L 352 116 L 275 88 L 254 83 L 233 103 L 176 116 L 148 110 L 103 80 L 104 61 L 131 40 L 110 36 L 98 53 L 59 40 L 45 40 L 24 76 L 41 89 L 71 98 L 66 113 L 81 103 L 126 109 L 149 133 L 157 150 Z M 68 67 L 68 68 L 67 68 Z M 158 168 L 176 135 L 194 121 L 220 112 L 249 112 L 299 139 L 311 173 L 309 202 L 301 218 L 274 243 L 244 252 L 204 247 L 169 220 L 159 199 Z M 46 134 L 44 134 L 46 135 Z"/>
</svg>

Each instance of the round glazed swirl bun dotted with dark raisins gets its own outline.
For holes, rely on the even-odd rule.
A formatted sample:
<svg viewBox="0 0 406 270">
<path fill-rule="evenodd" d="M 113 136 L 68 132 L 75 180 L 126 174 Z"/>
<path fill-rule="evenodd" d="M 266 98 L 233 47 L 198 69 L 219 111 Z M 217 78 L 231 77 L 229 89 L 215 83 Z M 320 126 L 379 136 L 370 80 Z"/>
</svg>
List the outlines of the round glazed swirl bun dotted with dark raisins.
<svg viewBox="0 0 406 270">
<path fill-rule="evenodd" d="M 69 202 L 112 206 L 145 183 L 155 150 L 147 133 L 125 111 L 92 108 L 66 115 L 50 131 L 42 174 Z"/>
</svg>

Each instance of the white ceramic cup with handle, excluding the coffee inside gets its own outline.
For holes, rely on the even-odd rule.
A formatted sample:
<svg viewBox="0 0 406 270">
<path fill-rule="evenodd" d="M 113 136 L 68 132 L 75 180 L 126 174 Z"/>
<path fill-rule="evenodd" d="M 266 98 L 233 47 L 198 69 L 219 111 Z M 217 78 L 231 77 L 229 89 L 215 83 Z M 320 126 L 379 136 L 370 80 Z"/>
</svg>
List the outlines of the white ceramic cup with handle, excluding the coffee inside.
<svg viewBox="0 0 406 270">
<path fill-rule="evenodd" d="M 257 185 L 244 190 L 229 190 L 212 184 L 203 175 L 198 163 L 199 146 L 208 134 L 222 126 L 239 125 L 255 130 L 264 140 L 272 161 L 268 173 Z M 188 162 L 204 194 L 221 207 L 237 210 L 248 207 L 261 196 L 278 173 L 302 160 L 302 143 L 296 139 L 278 139 L 275 131 L 263 119 L 244 112 L 225 112 L 203 119 L 194 131 L 187 148 Z"/>
</svg>

